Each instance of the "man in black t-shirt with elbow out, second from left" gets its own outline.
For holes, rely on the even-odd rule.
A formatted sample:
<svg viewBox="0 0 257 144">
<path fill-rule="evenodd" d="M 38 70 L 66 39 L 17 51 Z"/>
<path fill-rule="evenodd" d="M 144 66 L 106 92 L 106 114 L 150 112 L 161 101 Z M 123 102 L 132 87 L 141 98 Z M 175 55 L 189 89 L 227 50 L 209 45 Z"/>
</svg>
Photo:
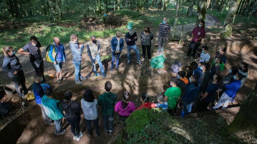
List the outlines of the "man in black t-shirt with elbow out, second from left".
<svg viewBox="0 0 257 144">
<path fill-rule="evenodd" d="M 44 81 L 46 81 L 44 76 L 44 60 L 41 55 L 41 44 L 37 40 L 36 36 L 31 36 L 29 38 L 30 42 L 28 42 L 25 46 L 18 50 L 20 54 L 29 55 L 29 61 L 32 67 L 35 69 L 36 73 L 41 73 Z M 25 52 L 28 51 L 28 52 Z"/>
</svg>

